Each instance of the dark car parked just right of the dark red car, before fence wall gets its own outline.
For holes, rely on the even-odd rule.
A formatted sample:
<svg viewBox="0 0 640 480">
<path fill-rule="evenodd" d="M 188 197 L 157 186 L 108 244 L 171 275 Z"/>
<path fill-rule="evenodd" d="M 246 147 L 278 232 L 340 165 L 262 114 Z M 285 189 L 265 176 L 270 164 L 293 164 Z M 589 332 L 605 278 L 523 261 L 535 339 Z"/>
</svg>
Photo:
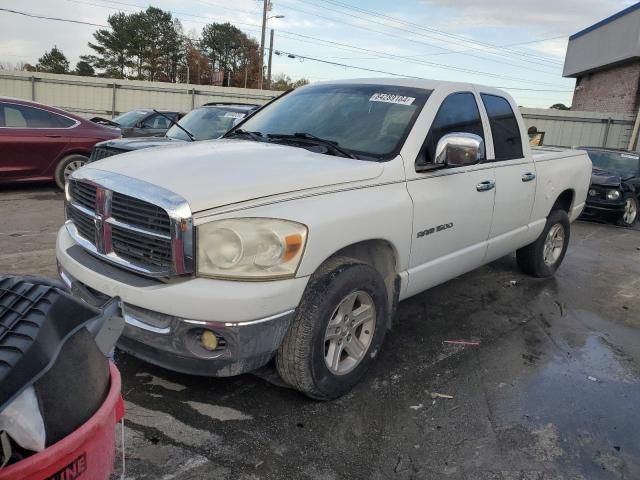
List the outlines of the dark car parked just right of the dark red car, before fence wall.
<svg viewBox="0 0 640 480">
<path fill-rule="evenodd" d="M 117 127 L 123 137 L 162 137 L 174 122 L 182 118 L 183 114 L 170 110 L 154 110 L 141 108 L 118 115 L 113 120 L 94 117 L 92 122 L 109 127 Z"/>
</svg>

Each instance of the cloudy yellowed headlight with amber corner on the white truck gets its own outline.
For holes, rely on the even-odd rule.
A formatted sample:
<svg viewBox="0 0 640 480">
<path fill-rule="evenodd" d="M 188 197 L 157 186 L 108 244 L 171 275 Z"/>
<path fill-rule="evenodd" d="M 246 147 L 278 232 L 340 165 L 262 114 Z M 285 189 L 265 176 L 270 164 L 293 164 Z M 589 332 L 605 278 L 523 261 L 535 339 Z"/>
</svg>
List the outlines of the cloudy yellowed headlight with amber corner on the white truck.
<svg viewBox="0 0 640 480">
<path fill-rule="evenodd" d="M 307 240 L 301 223 L 270 218 L 218 220 L 197 232 L 197 273 L 217 278 L 293 277 Z"/>
</svg>

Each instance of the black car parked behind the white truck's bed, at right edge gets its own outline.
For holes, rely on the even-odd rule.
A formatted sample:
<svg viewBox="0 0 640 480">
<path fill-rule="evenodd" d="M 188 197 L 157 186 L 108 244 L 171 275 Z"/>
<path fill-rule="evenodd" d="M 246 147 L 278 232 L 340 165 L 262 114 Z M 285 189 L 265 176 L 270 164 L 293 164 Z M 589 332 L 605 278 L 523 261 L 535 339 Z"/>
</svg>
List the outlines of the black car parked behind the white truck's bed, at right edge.
<svg viewBox="0 0 640 480">
<path fill-rule="evenodd" d="M 640 202 L 640 155 L 626 150 L 578 148 L 587 152 L 593 164 L 584 215 L 633 226 Z"/>
</svg>

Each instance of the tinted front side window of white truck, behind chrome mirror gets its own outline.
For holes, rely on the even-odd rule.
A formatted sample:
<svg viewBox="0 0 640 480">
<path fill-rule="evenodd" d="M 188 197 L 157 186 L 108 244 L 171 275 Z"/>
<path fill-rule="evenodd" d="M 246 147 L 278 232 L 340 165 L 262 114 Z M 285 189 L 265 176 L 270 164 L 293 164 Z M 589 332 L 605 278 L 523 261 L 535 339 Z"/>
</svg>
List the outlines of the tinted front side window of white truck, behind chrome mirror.
<svg viewBox="0 0 640 480">
<path fill-rule="evenodd" d="M 418 162 L 433 162 L 438 141 L 449 133 L 473 133 L 484 140 L 480 111 L 473 93 L 454 93 L 440 105 Z"/>
</svg>

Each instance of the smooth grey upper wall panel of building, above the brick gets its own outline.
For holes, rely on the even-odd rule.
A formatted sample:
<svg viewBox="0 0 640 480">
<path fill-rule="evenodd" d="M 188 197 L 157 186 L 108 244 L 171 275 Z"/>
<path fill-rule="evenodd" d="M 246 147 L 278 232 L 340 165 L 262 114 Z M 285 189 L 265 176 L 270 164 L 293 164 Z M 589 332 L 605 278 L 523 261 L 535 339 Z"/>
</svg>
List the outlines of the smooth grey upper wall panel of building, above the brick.
<svg viewBox="0 0 640 480">
<path fill-rule="evenodd" d="M 563 75 L 575 77 L 640 57 L 640 4 L 569 37 Z"/>
</svg>

